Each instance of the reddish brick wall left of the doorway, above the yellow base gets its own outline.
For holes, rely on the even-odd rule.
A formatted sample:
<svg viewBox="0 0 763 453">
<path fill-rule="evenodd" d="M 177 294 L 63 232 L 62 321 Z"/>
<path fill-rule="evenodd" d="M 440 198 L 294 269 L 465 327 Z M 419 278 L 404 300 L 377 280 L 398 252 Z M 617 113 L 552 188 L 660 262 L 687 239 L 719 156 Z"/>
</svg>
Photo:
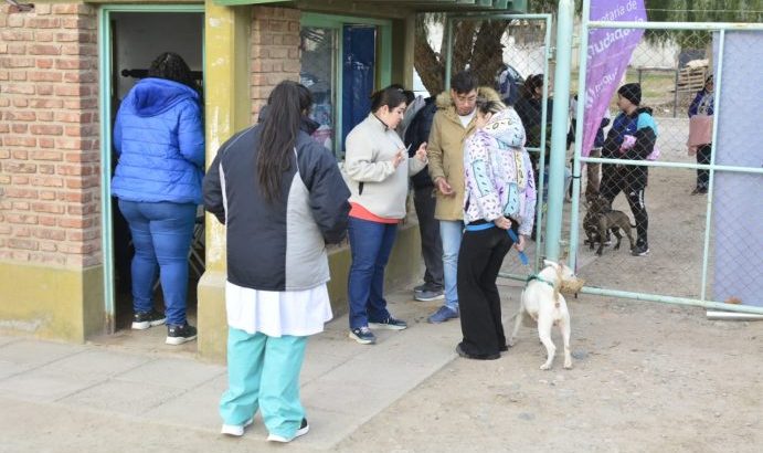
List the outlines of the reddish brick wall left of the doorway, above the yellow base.
<svg viewBox="0 0 763 453">
<path fill-rule="evenodd" d="M 0 260 L 97 264 L 96 10 L 0 4 Z"/>
</svg>

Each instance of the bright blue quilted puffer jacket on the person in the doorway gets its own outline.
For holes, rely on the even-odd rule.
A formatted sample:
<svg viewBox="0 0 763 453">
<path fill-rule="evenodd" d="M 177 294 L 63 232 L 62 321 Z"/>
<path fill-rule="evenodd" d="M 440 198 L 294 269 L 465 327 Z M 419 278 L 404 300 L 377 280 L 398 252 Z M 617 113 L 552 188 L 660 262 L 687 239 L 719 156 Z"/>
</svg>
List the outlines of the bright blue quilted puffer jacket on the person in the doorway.
<svg viewBox="0 0 763 453">
<path fill-rule="evenodd" d="M 201 203 L 204 129 L 199 93 L 165 78 L 144 78 L 123 101 L 114 125 L 115 197 L 127 201 Z"/>
</svg>

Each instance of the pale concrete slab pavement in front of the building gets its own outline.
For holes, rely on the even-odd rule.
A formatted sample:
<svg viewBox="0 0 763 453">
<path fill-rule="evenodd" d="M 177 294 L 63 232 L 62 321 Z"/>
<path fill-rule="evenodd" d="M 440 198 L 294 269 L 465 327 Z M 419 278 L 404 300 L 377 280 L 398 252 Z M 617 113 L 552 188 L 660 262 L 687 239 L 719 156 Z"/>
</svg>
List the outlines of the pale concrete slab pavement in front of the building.
<svg viewBox="0 0 763 453">
<path fill-rule="evenodd" d="M 345 315 L 310 339 L 301 398 L 311 430 L 298 451 L 331 450 L 456 357 L 459 324 L 426 323 L 441 302 L 410 292 L 388 301 L 409 329 L 378 330 L 379 343 L 363 346 L 348 339 Z M 259 418 L 242 439 L 219 435 L 225 367 L 195 358 L 193 344 L 163 345 L 165 335 L 162 326 L 87 345 L 0 336 L 0 452 L 273 447 Z"/>
</svg>

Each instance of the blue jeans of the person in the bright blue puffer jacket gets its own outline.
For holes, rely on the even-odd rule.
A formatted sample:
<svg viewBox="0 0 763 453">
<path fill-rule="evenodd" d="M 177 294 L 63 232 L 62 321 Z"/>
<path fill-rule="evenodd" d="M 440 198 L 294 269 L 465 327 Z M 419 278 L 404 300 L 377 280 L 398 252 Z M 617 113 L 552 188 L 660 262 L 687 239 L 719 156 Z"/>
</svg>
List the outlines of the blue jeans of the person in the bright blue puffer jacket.
<svg viewBox="0 0 763 453">
<path fill-rule="evenodd" d="M 167 324 L 186 324 L 188 252 L 197 206 L 119 200 L 119 211 L 130 227 L 135 245 L 133 309 L 150 312 L 153 308 L 153 282 L 159 274 Z"/>
</svg>

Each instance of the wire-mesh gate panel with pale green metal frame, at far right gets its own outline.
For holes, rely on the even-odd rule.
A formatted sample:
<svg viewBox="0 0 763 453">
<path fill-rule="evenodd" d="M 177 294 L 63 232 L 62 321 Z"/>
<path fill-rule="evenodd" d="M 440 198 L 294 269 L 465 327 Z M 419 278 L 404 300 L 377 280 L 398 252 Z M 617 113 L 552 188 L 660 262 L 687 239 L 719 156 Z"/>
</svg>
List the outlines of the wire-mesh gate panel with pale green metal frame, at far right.
<svg viewBox="0 0 763 453">
<path fill-rule="evenodd" d="M 763 314 L 763 133 L 760 127 L 740 129 L 734 122 L 739 115 L 760 118 L 760 110 L 752 109 L 751 104 L 757 104 L 752 99 L 760 98 L 759 86 L 763 83 L 760 71 L 754 69 L 754 62 L 763 59 L 763 52 L 757 51 L 763 46 L 763 25 L 605 22 L 589 18 L 590 1 L 585 1 L 579 98 L 585 99 L 589 88 L 586 55 L 590 45 L 595 44 L 589 42 L 591 33 L 600 29 L 607 29 L 612 35 L 646 31 L 648 39 L 634 52 L 625 81 L 618 86 L 642 83 L 642 105 L 654 107 L 660 156 L 657 160 L 583 157 L 582 140 L 576 140 L 573 198 L 565 224 L 569 262 L 587 282 L 583 293 Z M 667 56 L 660 54 L 660 48 L 666 45 L 672 45 L 679 56 L 671 60 L 670 52 Z M 691 55 L 689 51 L 697 53 Z M 658 63 L 664 56 L 667 63 Z M 706 71 L 700 70 L 703 64 Z M 714 76 L 714 86 L 706 83 L 710 81 L 708 76 Z M 714 98 L 710 113 L 702 93 L 712 93 L 710 97 Z M 613 118 L 616 97 L 611 104 Z M 704 110 L 698 114 L 696 102 L 700 97 Z M 577 118 L 583 118 L 584 105 L 585 102 L 577 104 Z M 700 115 L 710 117 L 712 138 L 710 144 L 697 146 L 691 141 L 697 140 L 692 131 L 697 129 L 691 124 Z M 575 137 L 582 135 L 581 120 Z M 698 157 L 688 156 L 687 144 Z M 646 227 L 643 215 L 638 225 L 643 233 L 648 231 L 646 256 L 628 253 L 627 239 L 619 250 L 604 247 L 601 256 L 584 244 L 582 219 L 586 210 L 579 207 L 584 186 L 581 177 L 585 180 L 586 171 L 581 169 L 595 165 L 618 166 L 624 175 L 647 169 L 648 183 L 640 203 L 646 206 L 648 217 Z M 612 193 L 608 188 L 600 189 Z M 623 188 L 624 192 L 629 190 L 627 185 Z M 613 208 L 625 212 L 633 222 L 635 214 L 624 200 L 629 193 L 617 196 Z"/>
</svg>

